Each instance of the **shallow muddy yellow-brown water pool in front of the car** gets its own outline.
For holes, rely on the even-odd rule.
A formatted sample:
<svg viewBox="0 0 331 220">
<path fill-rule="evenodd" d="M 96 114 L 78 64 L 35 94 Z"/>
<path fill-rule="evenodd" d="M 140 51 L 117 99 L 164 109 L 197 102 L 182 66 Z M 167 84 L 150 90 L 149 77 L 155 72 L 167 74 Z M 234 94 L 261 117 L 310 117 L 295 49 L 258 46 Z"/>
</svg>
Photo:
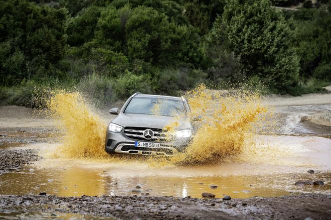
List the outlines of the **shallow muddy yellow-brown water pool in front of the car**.
<svg viewBox="0 0 331 220">
<path fill-rule="evenodd" d="M 257 137 L 254 154 L 243 151 L 231 161 L 200 166 L 151 166 L 139 157 L 84 160 L 42 159 L 24 170 L 0 176 L 1 194 L 58 196 L 141 195 L 200 198 L 276 197 L 290 193 L 331 193 L 331 139 L 312 136 Z M 56 145 L 34 144 L 47 158 Z M 308 174 L 308 169 L 316 170 Z M 295 186 L 296 181 L 323 180 L 324 186 Z M 216 189 L 210 188 L 216 185 Z"/>
</svg>

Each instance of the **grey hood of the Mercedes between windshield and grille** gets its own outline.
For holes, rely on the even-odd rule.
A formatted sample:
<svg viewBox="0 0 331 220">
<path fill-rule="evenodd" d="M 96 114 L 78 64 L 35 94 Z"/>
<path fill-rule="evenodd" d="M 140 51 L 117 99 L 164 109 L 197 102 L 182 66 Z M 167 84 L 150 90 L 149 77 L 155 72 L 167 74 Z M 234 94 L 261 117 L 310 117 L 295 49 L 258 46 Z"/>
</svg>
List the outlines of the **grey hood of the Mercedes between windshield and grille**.
<svg viewBox="0 0 331 220">
<path fill-rule="evenodd" d="M 164 128 L 171 122 L 178 122 L 178 130 L 191 129 L 191 123 L 185 119 L 177 119 L 171 116 L 120 113 L 112 120 L 113 123 L 123 127 L 153 127 Z"/>
</svg>

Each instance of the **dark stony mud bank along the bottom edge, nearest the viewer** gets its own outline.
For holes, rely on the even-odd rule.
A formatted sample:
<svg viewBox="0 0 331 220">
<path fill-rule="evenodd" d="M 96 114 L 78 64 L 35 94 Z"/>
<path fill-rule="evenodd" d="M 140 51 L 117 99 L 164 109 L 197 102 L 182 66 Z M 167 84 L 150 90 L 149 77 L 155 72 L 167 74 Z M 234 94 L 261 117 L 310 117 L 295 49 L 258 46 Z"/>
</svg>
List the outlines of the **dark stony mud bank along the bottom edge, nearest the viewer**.
<svg viewBox="0 0 331 220">
<path fill-rule="evenodd" d="M 148 196 L 0 196 L 0 217 L 63 213 L 110 219 L 331 219 L 331 195 L 280 198 L 192 199 Z"/>
</svg>

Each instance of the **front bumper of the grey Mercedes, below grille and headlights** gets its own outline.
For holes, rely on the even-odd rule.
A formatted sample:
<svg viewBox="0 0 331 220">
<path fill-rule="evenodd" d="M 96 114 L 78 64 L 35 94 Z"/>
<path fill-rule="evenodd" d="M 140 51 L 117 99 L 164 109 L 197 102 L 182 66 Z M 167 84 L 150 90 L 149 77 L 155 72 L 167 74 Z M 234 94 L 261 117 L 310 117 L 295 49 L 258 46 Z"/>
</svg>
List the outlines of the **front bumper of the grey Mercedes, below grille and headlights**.
<svg viewBox="0 0 331 220">
<path fill-rule="evenodd" d="M 140 154 L 140 155 L 159 155 L 174 156 L 182 152 L 191 141 L 191 138 L 181 138 L 169 142 L 160 142 L 160 148 L 135 147 L 137 140 L 129 138 L 122 130 L 119 133 L 107 131 L 105 150 L 108 153 Z M 153 142 L 142 140 L 144 142 Z"/>
</svg>

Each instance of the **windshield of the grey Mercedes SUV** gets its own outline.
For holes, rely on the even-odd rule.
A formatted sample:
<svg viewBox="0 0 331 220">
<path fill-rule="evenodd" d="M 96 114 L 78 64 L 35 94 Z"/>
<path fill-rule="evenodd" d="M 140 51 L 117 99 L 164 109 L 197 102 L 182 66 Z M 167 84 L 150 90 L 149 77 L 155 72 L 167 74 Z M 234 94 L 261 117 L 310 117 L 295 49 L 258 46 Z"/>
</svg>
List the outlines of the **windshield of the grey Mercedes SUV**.
<svg viewBox="0 0 331 220">
<path fill-rule="evenodd" d="M 180 116 L 185 115 L 185 110 L 184 103 L 179 100 L 135 97 L 130 101 L 124 113 Z"/>
</svg>

